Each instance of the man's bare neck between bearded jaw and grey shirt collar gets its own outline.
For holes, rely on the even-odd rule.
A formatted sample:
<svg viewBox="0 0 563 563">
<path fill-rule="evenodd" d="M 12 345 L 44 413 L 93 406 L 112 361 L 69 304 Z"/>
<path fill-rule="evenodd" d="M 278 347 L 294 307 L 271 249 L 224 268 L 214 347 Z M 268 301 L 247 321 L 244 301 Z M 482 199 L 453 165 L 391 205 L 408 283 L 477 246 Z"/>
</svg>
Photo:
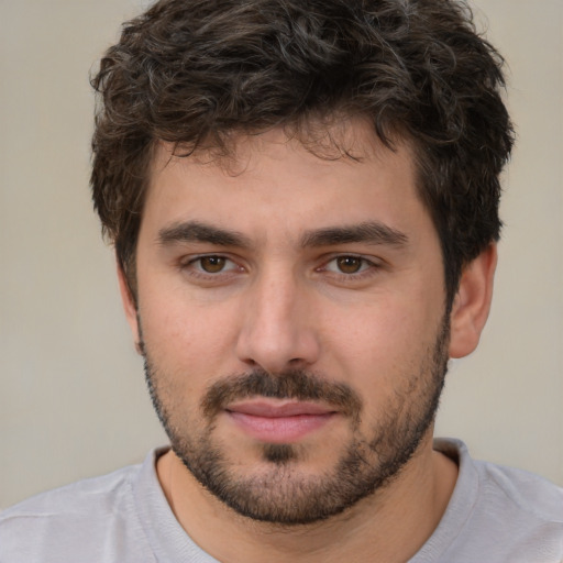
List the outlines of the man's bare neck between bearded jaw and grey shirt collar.
<svg viewBox="0 0 563 563">
<path fill-rule="evenodd" d="M 332 563 L 376 558 L 391 563 L 408 561 L 432 534 L 453 492 L 457 467 L 432 450 L 429 435 L 387 486 L 342 515 L 294 527 L 235 514 L 201 487 L 172 451 L 158 460 L 157 474 L 181 527 L 219 561 Z"/>
</svg>

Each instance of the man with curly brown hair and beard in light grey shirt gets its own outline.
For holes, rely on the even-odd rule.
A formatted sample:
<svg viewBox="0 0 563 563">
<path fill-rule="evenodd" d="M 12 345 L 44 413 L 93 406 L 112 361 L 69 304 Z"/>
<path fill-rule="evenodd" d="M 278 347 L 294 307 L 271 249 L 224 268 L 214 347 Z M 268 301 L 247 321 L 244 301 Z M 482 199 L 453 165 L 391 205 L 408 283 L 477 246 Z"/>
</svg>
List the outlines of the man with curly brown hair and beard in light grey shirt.
<svg viewBox="0 0 563 563">
<path fill-rule="evenodd" d="M 488 314 L 501 59 L 444 0 L 162 0 L 92 82 L 96 209 L 170 449 L 0 561 L 561 562 L 563 492 L 433 441 Z"/>
</svg>

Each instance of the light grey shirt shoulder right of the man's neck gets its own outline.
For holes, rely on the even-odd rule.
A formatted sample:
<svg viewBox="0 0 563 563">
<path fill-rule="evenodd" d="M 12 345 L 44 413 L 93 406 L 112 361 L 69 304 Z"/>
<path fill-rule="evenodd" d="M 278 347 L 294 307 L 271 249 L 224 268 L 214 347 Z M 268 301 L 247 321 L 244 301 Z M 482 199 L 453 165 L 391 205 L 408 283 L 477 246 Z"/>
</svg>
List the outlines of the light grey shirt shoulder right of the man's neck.
<svg viewBox="0 0 563 563">
<path fill-rule="evenodd" d="M 454 459 L 460 473 L 423 550 L 432 558 L 420 561 L 450 561 L 454 554 L 460 562 L 563 561 L 562 487 L 522 470 L 475 461 L 457 440 L 437 440 L 434 448 Z"/>
</svg>

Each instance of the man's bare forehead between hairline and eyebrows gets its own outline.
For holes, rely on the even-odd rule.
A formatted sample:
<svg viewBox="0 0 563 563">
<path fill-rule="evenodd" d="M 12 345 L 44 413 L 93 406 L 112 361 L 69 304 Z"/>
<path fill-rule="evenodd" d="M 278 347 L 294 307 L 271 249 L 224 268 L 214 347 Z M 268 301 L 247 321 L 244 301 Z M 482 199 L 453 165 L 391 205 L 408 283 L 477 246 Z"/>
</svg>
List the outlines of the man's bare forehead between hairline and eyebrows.
<svg viewBox="0 0 563 563">
<path fill-rule="evenodd" d="M 408 143 L 385 146 L 364 121 L 295 135 L 282 128 L 234 136 L 229 151 L 188 156 L 161 143 L 151 167 L 143 222 L 208 220 L 249 225 L 267 218 L 286 232 L 322 223 L 386 223 L 426 213 Z M 205 216 L 205 217 L 203 217 Z M 402 217 L 401 217 L 402 216 Z"/>
</svg>

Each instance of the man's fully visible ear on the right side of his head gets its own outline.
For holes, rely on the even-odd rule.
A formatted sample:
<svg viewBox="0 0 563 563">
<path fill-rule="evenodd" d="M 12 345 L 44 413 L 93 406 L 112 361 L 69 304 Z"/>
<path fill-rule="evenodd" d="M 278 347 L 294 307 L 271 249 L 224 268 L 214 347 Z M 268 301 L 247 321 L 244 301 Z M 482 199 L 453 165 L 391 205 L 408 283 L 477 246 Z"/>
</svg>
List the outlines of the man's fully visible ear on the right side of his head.
<svg viewBox="0 0 563 563">
<path fill-rule="evenodd" d="M 466 356 L 477 347 L 490 310 L 496 266 L 497 245 L 490 244 L 463 268 L 450 316 L 450 357 Z"/>
</svg>

